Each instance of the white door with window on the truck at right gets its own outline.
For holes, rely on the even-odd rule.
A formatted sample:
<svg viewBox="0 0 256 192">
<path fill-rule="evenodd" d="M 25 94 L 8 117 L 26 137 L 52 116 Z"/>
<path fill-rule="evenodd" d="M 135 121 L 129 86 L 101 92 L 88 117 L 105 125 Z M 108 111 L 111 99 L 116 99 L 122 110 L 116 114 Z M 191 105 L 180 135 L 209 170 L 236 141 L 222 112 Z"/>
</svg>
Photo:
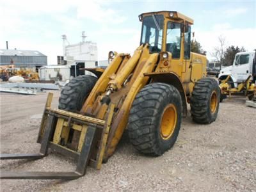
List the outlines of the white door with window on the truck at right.
<svg viewBox="0 0 256 192">
<path fill-rule="evenodd" d="M 237 54 L 232 67 L 232 75 L 238 82 L 241 82 L 247 79 L 250 72 L 250 54 Z"/>
</svg>

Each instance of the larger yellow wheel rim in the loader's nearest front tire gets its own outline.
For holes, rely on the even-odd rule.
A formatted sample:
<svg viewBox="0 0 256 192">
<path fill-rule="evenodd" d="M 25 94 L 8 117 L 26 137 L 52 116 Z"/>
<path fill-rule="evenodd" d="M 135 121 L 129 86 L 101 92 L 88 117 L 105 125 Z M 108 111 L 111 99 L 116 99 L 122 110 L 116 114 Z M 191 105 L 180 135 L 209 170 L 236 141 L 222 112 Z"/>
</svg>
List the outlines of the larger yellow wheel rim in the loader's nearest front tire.
<svg viewBox="0 0 256 192">
<path fill-rule="evenodd" d="M 168 140 L 175 129 L 177 123 L 177 110 L 173 104 L 168 104 L 164 108 L 162 122 L 160 127 L 161 137 L 164 140 Z"/>
</svg>

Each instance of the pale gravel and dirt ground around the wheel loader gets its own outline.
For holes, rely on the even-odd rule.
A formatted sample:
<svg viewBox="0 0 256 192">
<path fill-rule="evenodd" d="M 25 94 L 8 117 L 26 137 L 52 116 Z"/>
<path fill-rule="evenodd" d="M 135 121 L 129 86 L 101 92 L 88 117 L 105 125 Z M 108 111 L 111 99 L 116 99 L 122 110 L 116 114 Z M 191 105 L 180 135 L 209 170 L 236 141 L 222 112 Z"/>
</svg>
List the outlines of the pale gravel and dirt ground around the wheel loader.
<svg viewBox="0 0 256 192">
<path fill-rule="evenodd" d="M 47 93 L 0 93 L 1 153 L 36 153 Z M 58 106 L 54 92 L 53 106 Z M 1 191 L 256 191 L 256 109 L 245 98 L 226 99 L 216 122 L 183 118 L 177 143 L 161 157 L 146 157 L 123 139 L 101 170 L 77 180 L 1 180 Z M 72 171 L 72 159 L 50 154 L 36 161 L 1 161 L 1 170 Z"/>
</svg>

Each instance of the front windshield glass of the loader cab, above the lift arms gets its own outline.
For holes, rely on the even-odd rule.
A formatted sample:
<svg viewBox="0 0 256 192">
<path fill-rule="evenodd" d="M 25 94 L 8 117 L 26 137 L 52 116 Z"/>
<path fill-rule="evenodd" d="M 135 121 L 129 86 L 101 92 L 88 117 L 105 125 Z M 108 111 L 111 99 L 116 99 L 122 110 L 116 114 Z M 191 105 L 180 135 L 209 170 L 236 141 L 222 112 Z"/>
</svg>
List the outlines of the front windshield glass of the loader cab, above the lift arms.
<svg viewBox="0 0 256 192">
<path fill-rule="evenodd" d="M 150 52 L 160 52 L 162 49 L 163 15 L 150 15 L 143 18 L 141 42 L 148 43 Z"/>
</svg>

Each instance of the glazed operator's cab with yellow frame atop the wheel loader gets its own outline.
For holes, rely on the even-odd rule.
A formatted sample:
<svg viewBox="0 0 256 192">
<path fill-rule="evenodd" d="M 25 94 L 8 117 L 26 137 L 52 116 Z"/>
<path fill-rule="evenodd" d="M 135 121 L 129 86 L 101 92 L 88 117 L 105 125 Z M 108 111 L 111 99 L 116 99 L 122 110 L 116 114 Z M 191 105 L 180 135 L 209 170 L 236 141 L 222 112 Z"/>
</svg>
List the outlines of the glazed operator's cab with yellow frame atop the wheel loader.
<svg viewBox="0 0 256 192">
<path fill-rule="evenodd" d="M 172 59 L 190 58 L 193 20 L 178 12 L 150 12 L 139 15 L 142 21 L 140 44 L 148 43 L 150 52 L 171 52 Z"/>
</svg>

